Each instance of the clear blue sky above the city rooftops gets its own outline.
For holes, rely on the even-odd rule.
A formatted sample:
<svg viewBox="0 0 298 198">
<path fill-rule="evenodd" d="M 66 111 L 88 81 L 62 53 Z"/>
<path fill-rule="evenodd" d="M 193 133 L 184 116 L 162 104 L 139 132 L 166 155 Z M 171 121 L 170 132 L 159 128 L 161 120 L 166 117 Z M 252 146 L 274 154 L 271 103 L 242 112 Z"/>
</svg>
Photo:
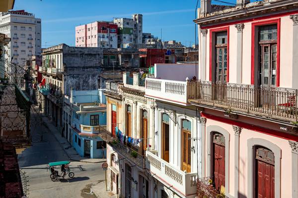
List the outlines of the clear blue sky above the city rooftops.
<svg viewBox="0 0 298 198">
<path fill-rule="evenodd" d="M 162 28 L 162 40 L 181 41 L 189 46 L 195 41 L 196 3 L 197 0 L 15 0 L 14 10 L 25 9 L 42 19 L 43 48 L 60 43 L 74 46 L 75 26 L 111 21 L 113 17 L 130 18 L 133 13 L 143 14 L 143 32 L 160 38 Z"/>
</svg>

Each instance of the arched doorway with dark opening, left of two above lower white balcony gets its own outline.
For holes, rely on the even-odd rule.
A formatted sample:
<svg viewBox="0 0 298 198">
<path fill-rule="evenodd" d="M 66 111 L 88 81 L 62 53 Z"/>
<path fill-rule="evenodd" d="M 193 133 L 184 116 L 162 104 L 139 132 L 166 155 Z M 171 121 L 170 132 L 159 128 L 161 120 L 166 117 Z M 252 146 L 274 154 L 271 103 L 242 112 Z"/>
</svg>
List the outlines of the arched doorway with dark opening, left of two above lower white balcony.
<svg viewBox="0 0 298 198">
<path fill-rule="evenodd" d="M 162 159 L 169 162 L 169 150 L 170 150 L 170 117 L 168 114 L 162 114 Z"/>
</svg>

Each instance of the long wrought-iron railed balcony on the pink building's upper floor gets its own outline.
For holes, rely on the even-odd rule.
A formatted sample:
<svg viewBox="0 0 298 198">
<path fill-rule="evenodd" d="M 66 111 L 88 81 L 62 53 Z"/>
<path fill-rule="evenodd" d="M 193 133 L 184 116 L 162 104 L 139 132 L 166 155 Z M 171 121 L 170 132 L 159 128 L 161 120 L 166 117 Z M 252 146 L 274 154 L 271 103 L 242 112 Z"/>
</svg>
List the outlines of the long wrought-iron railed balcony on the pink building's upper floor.
<svg viewBox="0 0 298 198">
<path fill-rule="evenodd" d="M 240 111 L 283 121 L 297 122 L 298 90 L 254 88 L 251 85 L 188 82 L 188 102 Z"/>
</svg>

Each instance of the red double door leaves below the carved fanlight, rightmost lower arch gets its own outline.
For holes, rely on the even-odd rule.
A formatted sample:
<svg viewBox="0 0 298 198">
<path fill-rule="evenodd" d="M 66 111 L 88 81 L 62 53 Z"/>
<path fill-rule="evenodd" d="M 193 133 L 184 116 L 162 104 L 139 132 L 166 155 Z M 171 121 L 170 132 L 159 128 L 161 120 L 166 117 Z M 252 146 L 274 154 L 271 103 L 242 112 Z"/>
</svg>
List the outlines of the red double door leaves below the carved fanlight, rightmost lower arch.
<svg viewBox="0 0 298 198">
<path fill-rule="evenodd" d="M 274 198 L 274 165 L 256 159 L 257 198 Z"/>
</svg>

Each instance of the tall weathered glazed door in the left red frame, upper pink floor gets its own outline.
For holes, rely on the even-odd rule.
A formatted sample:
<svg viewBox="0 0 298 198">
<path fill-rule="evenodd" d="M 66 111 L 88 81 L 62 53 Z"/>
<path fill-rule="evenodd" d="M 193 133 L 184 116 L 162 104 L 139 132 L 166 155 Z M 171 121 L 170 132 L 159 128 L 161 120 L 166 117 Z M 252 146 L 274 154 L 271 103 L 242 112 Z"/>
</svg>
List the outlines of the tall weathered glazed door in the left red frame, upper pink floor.
<svg viewBox="0 0 298 198">
<path fill-rule="evenodd" d="M 216 60 L 214 86 L 215 99 L 224 100 L 226 98 L 227 81 L 227 32 L 216 33 Z"/>
</svg>

